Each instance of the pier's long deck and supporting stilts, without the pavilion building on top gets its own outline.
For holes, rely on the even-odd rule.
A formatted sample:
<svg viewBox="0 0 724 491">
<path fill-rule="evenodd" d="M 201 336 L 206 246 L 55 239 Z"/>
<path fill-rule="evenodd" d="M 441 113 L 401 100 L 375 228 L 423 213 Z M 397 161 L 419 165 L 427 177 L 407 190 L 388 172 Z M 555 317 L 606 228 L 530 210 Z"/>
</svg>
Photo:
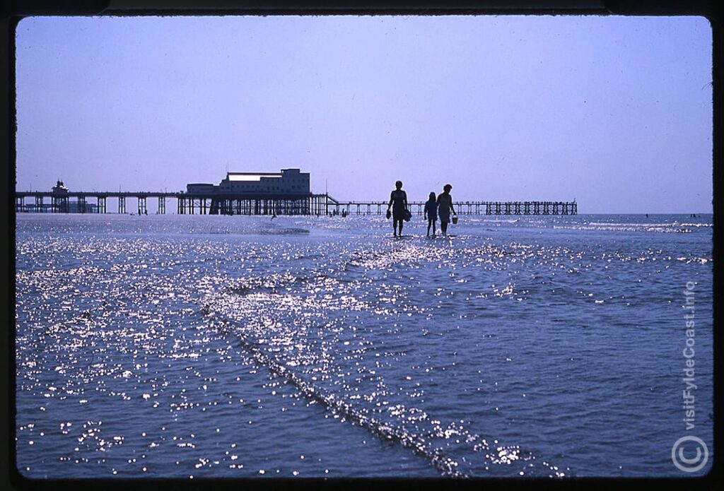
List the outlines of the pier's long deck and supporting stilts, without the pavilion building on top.
<svg viewBox="0 0 724 491">
<path fill-rule="evenodd" d="M 107 200 L 117 200 L 117 213 L 148 214 L 146 200 L 156 198 L 166 213 L 166 200 L 177 200 L 179 215 L 384 215 L 387 201 L 340 202 L 329 194 L 191 195 L 185 192 L 16 192 L 18 213 L 108 213 Z M 26 198 L 32 199 L 30 203 Z M 75 198 L 75 200 L 71 200 Z M 91 202 L 88 199 L 92 200 Z M 127 199 L 135 198 L 135 208 Z M 46 199 L 49 202 L 46 202 Z M 95 203 L 93 203 L 95 201 Z M 576 201 L 456 201 L 460 215 L 577 215 Z M 408 202 L 412 213 L 424 214 L 425 203 Z"/>
</svg>

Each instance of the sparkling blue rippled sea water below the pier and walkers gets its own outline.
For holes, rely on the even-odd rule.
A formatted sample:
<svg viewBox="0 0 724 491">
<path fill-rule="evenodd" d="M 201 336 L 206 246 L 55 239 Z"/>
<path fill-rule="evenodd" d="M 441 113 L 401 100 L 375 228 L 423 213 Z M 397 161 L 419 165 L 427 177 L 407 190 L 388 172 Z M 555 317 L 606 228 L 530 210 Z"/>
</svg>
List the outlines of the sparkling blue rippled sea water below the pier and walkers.
<svg viewBox="0 0 724 491">
<path fill-rule="evenodd" d="M 400 239 L 390 225 L 17 215 L 17 469 L 185 479 L 710 469 L 712 215 L 461 215 L 435 238 L 418 215 Z M 689 434 L 710 462 L 683 474 L 671 450 Z"/>
</svg>

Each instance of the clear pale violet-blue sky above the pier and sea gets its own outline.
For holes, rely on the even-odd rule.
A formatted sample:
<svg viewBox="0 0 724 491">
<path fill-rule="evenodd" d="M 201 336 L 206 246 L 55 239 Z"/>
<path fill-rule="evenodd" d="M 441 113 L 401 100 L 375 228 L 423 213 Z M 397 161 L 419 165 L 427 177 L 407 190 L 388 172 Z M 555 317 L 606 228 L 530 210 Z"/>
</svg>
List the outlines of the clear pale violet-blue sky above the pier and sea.
<svg viewBox="0 0 724 491">
<path fill-rule="evenodd" d="M 703 17 L 28 17 L 16 50 L 17 191 L 300 168 L 341 201 L 712 213 Z"/>
</svg>

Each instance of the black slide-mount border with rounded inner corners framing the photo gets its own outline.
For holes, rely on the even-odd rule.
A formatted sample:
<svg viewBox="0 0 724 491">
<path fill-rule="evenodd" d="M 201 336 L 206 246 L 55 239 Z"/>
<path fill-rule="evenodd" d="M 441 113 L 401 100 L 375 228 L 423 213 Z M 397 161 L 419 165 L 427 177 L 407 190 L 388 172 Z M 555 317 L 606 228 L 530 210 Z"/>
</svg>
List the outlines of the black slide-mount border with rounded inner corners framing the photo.
<svg viewBox="0 0 724 491">
<path fill-rule="evenodd" d="M 721 245 L 722 221 L 722 186 L 724 184 L 724 168 L 722 165 L 722 88 L 723 64 L 721 59 L 723 48 L 722 37 L 722 2 L 721 0 L 639 0 L 639 1 L 608 1 L 608 0 L 408 0 L 408 1 L 324 1 L 324 0 L 60 0 L 60 1 L 12 1 L 10 5 L 1 7 L 1 74 L 2 96 L 1 110 L 4 113 L 4 128 L 0 132 L 1 145 L 5 158 L 0 196 L 3 205 L 0 215 L 7 226 L 7 233 L 1 241 L 2 271 L 7 278 L 3 295 L 4 332 L 0 334 L 0 389 L 3 399 L 0 403 L 2 422 L 0 424 L 0 481 L 5 490 L 55 490 L 67 487 L 80 490 L 190 490 L 208 488 L 213 490 L 247 490 L 249 488 L 299 489 L 374 489 L 391 485 L 399 489 L 418 489 L 420 487 L 455 487 L 455 489 L 601 489 L 609 490 L 619 485 L 636 487 L 652 487 L 652 489 L 724 489 L 722 479 L 722 367 L 724 354 L 723 336 L 717 328 L 724 328 L 723 309 L 717 302 L 713 308 L 713 346 L 714 346 L 714 448 L 711 449 L 712 469 L 704 477 L 671 477 L 671 478 L 584 478 L 566 477 L 564 479 L 549 478 L 506 478 L 506 479 L 28 479 L 22 477 L 15 465 L 15 29 L 23 18 L 34 15 L 45 16 L 77 16 L 77 15 L 337 15 L 337 14 L 382 14 L 382 15 L 631 15 L 631 16 L 702 16 L 710 20 L 712 26 L 712 83 L 713 83 L 713 265 L 714 298 L 717 290 L 723 285 L 723 269 L 719 264 L 717 251 Z M 716 362 L 716 360 L 720 362 Z"/>
</svg>

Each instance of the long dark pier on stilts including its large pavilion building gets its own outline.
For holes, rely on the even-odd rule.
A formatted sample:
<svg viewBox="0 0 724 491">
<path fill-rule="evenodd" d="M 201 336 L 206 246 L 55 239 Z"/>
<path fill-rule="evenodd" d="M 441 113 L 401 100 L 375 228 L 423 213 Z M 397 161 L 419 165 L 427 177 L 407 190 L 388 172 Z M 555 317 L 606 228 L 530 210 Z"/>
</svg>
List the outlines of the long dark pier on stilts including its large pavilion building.
<svg viewBox="0 0 724 491">
<path fill-rule="evenodd" d="M 311 192 L 310 176 L 298 168 L 279 172 L 228 172 L 219 184 L 192 183 L 186 191 L 71 191 L 58 181 L 51 191 L 15 192 L 16 213 L 108 213 L 108 200 L 127 213 L 135 200 L 139 215 L 148 215 L 149 198 L 158 201 L 156 213 L 166 213 L 166 200 L 176 200 L 178 215 L 383 215 L 389 201 L 340 202 Z M 25 200 L 30 198 L 30 203 Z M 75 200 L 71 200 L 75 198 Z M 48 200 L 46 202 L 46 200 Z M 90 201 L 89 201 L 90 200 Z M 131 206 L 128 204 L 128 206 Z M 461 215 L 577 215 L 578 205 L 563 201 L 456 201 Z M 412 213 L 424 214 L 425 202 L 408 202 Z"/>
</svg>

